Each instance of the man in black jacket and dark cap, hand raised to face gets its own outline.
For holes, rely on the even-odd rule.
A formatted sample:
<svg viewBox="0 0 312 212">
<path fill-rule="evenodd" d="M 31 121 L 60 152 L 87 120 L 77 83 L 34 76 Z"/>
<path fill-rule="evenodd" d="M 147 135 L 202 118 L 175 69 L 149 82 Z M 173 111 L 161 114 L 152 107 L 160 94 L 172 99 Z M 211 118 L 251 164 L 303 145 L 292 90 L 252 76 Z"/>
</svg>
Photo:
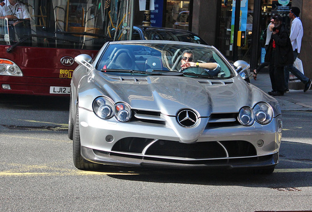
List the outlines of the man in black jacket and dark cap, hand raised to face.
<svg viewBox="0 0 312 212">
<path fill-rule="evenodd" d="M 272 96 L 283 96 L 285 91 L 284 67 L 293 64 L 293 52 L 288 32 L 283 25 L 283 18 L 280 15 L 273 17 L 274 28 L 269 43 L 270 51 L 270 79 Z"/>
</svg>

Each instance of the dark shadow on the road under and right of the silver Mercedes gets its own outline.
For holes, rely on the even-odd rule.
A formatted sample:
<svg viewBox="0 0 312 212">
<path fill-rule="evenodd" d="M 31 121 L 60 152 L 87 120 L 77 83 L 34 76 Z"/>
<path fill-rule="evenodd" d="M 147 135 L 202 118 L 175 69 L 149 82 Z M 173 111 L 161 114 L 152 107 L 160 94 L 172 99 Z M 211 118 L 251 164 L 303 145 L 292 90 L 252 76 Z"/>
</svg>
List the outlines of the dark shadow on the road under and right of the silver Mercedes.
<svg viewBox="0 0 312 212">
<path fill-rule="evenodd" d="M 104 172 L 135 173 L 108 176 L 116 179 L 154 183 L 238 185 L 248 187 L 306 187 L 312 186 L 312 145 L 283 142 L 280 163 L 272 174 L 256 174 L 246 169 L 156 169 L 104 166 Z M 287 151 L 284 151 L 287 150 Z M 294 151 L 296 150 L 296 151 Z"/>
</svg>

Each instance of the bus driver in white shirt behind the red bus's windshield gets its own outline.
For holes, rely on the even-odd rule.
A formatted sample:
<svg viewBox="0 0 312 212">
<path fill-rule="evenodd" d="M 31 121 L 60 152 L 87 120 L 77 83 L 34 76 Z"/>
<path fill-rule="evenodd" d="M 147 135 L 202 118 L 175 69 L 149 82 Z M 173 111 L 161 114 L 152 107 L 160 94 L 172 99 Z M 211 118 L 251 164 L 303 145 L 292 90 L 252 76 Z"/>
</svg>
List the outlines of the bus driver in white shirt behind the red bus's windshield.
<svg viewBox="0 0 312 212">
<path fill-rule="evenodd" d="M 0 3 L 0 19 L 30 19 L 27 6 L 19 0 L 3 0 Z M 10 23 L 16 25 L 19 22 Z"/>
</svg>

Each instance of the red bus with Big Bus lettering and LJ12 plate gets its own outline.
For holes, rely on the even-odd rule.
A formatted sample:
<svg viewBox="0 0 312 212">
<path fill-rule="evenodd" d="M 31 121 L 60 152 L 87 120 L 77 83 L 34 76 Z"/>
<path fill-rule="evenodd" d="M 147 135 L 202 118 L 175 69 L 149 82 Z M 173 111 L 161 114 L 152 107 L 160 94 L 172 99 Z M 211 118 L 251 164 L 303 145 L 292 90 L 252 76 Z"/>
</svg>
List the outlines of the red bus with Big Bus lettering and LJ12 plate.
<svg viewBox="0 0 312 212">
<path fill-rule="evenodd" d="M 75 56 L 132 33 L 131 0 L 20 2 L 30 19 L 0 19 L 0 93 L 69 94 Z"/>
</svg>

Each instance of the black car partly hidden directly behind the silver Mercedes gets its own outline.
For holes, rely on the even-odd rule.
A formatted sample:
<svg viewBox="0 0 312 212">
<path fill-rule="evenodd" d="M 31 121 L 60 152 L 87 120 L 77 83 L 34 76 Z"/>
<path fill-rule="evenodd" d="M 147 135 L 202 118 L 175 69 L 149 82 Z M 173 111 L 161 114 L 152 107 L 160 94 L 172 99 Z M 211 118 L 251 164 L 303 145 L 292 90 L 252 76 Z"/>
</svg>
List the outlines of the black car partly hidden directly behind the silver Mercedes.
<svg viewBox="0 0 312 212">
<path fill-rule="evenodd" d="M 163 27 L 134 26 L 132 40 L 169 40 L 208 45 L 193 32 Z"/>
</svg>

